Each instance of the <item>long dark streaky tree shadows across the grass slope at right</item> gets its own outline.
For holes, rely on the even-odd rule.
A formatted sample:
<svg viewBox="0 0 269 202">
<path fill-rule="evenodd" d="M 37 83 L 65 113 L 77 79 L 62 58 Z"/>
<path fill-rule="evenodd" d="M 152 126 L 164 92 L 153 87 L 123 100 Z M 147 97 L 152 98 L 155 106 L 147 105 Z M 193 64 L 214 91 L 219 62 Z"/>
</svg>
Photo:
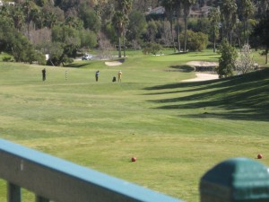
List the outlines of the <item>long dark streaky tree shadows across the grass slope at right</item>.
<svg viewBox="0 0 269 202">
<path fill-rule="evenodd" d="M 178 90 L 180 89 L 180 90 Z M 160 103 L 158 109 L 206 109 L 218 108 L 218 112 L 185 115 L 190 118 L 269 120 L 269 69 L 252 74 L 233 76 L 226 79 L 195 82 L 171 83 L 147 88 L 149 91 L 169 90 L 158 93 L 175 93 L 175 97 L 152 100 Z M 172 90 L 172 91 L 171 91 Z M 179 92 L 179 95 L 176 94 Z M 180 92 L 189 92 L 180 95 Z M 186 95 L 187 94 L 187 95 Z M 222 111 L 226 112 L 222 112 Z"/>
</svg>

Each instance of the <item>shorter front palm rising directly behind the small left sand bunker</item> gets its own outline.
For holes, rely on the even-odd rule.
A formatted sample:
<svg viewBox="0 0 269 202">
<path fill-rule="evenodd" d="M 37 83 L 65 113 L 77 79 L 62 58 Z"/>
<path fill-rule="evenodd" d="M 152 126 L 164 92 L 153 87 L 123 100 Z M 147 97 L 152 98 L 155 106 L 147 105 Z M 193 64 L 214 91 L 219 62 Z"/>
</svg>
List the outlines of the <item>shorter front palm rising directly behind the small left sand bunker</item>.
<svg viewBox="0 0 269 202">
<path fill-rule="evenodd" d="M 117 31 L 118 57 L 121 57 L 121 36 L 124 31 L 125 21 L 126 21 L 126 15 L 120 11 L 117 11 L 112 18 L 113 25 Z"/>
</svg>

